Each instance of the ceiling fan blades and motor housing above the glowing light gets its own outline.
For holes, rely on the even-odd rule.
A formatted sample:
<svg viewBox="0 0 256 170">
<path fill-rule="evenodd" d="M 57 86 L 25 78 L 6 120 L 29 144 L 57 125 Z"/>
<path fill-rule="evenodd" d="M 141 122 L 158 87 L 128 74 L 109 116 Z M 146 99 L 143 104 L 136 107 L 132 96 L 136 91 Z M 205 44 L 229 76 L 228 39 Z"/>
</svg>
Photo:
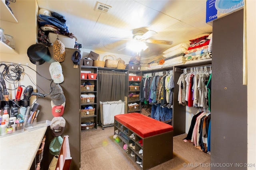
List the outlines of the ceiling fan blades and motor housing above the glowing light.
<svg viewBox="0 0 256 170">
<path fill-rule="evenodd" d="M 144 31 L 139 30 L 137 33 L 135 33 L 132 36 L 132 39 L 129 38 L 110 38 L 110 39 L 124 39 L 124 40 L 132 40 L 132 41 L 138 41 L 138 42 L 146 42 L 146 43 L 154 43 L 154 44 L 164 44 L 164 45 L 172 45 L 172 41 L 166 41 L 166 40 L 156 40 L 156 39 L 148 39 L 152 37 L 153 35 L 156 35 L 156 31 L 148 30 L 146 33 Z M 125 49 L 126 47 L 122 47 L 121 49 L 118 49 L 118 51 L 121 51 Z"/>
</svg>

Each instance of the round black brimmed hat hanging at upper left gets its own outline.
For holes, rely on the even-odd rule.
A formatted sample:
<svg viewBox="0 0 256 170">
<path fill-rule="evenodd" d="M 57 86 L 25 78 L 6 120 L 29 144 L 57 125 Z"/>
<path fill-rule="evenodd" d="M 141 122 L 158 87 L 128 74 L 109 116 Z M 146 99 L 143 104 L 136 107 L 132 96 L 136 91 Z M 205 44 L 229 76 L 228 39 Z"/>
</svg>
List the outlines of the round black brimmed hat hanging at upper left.
<svg viewBox="0 0 256 170">
<path fill-rule="evenodd" d="M 42 44 L 33 44 L 28 47 L 27 55 L 30 62 L 36 65 L 44 64 L 51 59 L 48 47 Z"/>
</svg>

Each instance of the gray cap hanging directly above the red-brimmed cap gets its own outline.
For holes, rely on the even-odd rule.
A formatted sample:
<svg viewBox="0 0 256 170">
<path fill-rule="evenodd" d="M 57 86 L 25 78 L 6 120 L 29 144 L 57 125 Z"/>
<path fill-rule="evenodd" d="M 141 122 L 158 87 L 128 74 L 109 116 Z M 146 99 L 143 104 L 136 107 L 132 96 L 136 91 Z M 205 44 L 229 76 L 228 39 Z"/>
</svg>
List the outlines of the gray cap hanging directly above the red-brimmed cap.
<svg viewBox="0 0 256 170">
<path fill-rule="evenodd" d="M 64 102 L 66 102 L 66 98 L 64 96 L 64 93 L 60 84 L 56 84 L 52 86 L 52 92 L 50 93 L 50 97 L 52 99 L 53 104 L 56 106 L 60 106 L 64 104 Z"/>
</svg>

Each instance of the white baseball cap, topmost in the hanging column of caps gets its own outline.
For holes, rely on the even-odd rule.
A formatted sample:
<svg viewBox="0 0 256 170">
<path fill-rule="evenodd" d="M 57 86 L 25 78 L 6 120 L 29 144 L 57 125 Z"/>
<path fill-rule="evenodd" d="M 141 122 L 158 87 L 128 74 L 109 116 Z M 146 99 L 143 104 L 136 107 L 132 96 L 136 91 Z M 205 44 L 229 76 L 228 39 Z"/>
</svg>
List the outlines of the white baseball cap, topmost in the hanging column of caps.
<svg viewBox="0 0 256 170">
<path fill-rule="evenodd" d="M 64 81 L 64 76 L 62 74 L 62 66 L 58 61 L 50 64 L 49 71 L 54 83 L 60 84 Z"/>
</svg>

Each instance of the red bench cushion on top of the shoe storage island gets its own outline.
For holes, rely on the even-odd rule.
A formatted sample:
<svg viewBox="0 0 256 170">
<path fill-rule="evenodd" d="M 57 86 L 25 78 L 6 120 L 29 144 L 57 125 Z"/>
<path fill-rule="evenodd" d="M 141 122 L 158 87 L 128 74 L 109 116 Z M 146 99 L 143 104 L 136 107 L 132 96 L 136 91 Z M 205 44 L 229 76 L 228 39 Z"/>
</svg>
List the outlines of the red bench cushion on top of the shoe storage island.
<svg viewBox="0 0 256 170">
<path fill-rule="evenodd" d="M 172 125 L 152 119 L 140 113 L 115 115 L 114 118 L 142 138 L 173 131 Z"/>
</svg>

